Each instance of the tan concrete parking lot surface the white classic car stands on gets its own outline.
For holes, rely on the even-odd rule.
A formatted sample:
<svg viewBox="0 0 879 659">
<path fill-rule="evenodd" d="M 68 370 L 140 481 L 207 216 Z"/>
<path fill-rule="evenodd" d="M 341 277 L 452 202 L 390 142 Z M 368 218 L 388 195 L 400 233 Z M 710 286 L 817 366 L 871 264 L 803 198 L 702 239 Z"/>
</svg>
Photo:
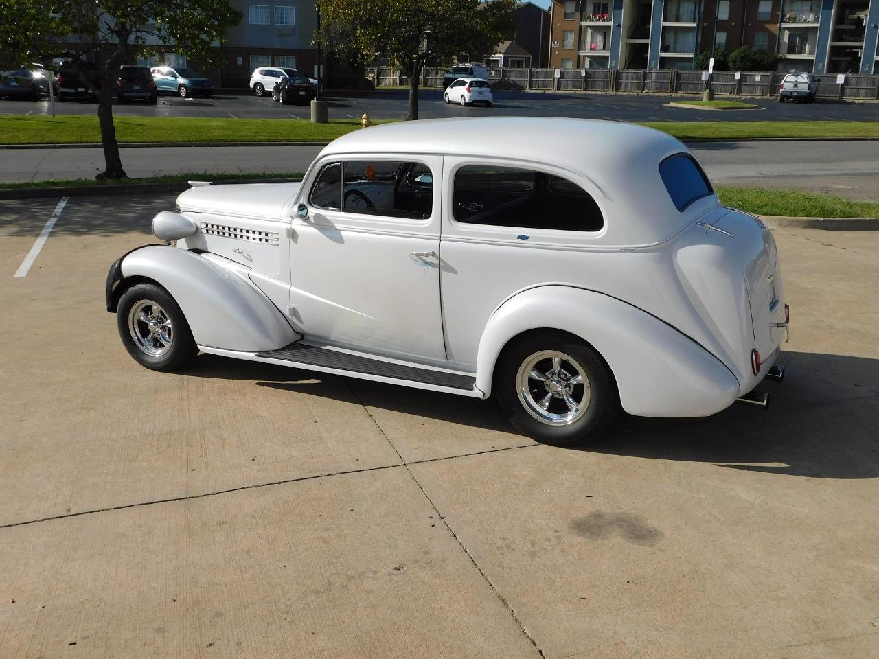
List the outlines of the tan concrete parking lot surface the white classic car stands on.
<svg viewBox="0 0 879 659">
<path fill-rule="evenodd" d="M 4 658 L 875 655 L 879 232 L 775 231 L 770 409 L 570 450 L 493 402 L 143 369 L 104 281 L 174 198 L 69 199 L 14 278 L 59 201 L 0 201 Z"/>
</svg>

